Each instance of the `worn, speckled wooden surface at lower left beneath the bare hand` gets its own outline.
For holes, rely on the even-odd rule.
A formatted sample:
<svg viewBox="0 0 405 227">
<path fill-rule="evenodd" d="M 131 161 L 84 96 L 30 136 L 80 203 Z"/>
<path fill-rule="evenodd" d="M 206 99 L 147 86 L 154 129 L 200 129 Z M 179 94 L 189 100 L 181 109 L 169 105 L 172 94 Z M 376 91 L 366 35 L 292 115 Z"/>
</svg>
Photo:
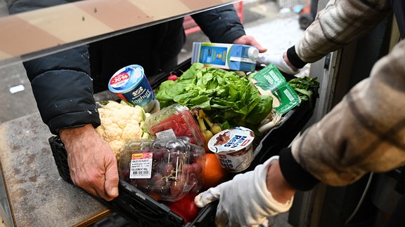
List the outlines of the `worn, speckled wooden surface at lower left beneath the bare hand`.
<svg viewBox="0 0 405 227">
<path fill-rule="evenodd" d="M 0 124 L 0 163 L 15 226 L 75 226 L 110 214 L 60 178 L 39 114 Z"/>
</svg>

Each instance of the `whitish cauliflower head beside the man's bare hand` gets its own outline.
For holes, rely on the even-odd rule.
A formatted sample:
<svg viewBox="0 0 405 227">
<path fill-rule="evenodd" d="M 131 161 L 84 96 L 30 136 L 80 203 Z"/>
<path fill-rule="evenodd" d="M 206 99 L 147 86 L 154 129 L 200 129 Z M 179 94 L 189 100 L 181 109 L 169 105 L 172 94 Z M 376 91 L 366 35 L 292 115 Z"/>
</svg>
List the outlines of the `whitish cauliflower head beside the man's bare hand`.
<svg viewBox="0 0 405 227">
<path fill-rule="evenodd" d="M 117 160 L 120 160 L 120 149 L 126 142 L 149 138 L 148 133 L 143 131 L 143 124 L 150 114 L 145 113 L 141 106 L 124 101 L 108 101 L 98 105 L 101 125 L 96 132 L 110 144 Z"/>
</svg>

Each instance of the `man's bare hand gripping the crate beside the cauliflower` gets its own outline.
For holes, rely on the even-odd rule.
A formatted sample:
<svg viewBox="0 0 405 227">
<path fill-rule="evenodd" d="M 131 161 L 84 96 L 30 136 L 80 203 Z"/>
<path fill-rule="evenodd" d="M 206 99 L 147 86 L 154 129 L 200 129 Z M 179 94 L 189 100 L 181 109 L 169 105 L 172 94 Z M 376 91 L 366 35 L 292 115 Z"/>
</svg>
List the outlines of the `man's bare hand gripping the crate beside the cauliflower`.
<svg viewBox="0 0 405 227">
<path fill-rule="evenodd" d="M 73 184 L 107 201 L 118 196 L 118 167 L 110 145 L 92 125 L 60 130 Z"/>
</svg>

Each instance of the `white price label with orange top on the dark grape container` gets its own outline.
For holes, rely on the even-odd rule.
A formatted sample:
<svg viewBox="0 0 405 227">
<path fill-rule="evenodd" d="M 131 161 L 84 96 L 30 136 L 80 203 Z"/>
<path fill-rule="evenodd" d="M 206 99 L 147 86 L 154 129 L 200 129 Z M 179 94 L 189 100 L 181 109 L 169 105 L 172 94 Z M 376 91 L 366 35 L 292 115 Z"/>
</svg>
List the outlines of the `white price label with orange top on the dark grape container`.
<svg viewBox="0 0 405 227">
<path fill-rule="evenodd" d="M 130 179 L 150 179 L 152 177 L 153 153 L 133 153 L 131 157 Z"/>
</svg>

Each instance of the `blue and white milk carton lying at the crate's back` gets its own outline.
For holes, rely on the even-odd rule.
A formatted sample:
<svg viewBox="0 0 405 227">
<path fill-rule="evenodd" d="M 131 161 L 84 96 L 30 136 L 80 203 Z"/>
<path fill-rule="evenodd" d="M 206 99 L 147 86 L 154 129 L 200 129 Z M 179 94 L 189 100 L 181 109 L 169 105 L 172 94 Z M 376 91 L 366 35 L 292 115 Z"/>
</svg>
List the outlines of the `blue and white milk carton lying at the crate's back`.
<svg viewBox="0 0 405 227">
<path fill-rule="evenodd" d="M 208 67 L 255 71 L 259 50 L 254 46 L 228 43 L 193 43 L 191 63 L 200 62 Z"/>
</svg>

